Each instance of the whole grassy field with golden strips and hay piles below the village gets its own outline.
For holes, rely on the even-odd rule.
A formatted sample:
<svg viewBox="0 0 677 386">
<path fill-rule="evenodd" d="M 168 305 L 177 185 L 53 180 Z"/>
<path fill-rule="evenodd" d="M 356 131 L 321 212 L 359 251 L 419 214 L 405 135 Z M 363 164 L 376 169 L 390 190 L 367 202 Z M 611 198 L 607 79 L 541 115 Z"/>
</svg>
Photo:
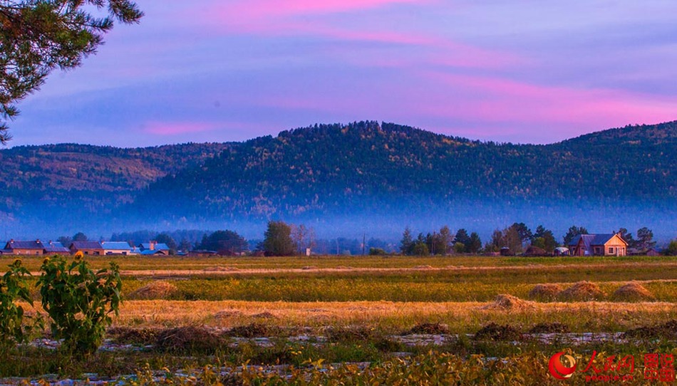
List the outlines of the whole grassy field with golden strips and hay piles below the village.
<svg viewBox="0 0 677 386">
<path fill-rule="evenodd" d="M 108 264 L 105 258 L 90 261 Z M 582 360 L 593 351 L 677 354 L 677 330 L 671 335 L 669 328 L 656 328 L 677 320 L 677 259 L 672 257 L 129 257 L 117 262 L 126 301 L 108 338 L 137 349 L 77 360 L 32 346 L 5 350 L 0 377 L 84 379 L 91 372 L 99 377 L 138 372 L 137 380 L 125 382 L 153 383 L 158 374 L 183 369 L 205 384 L 555 385 L 559 381 L 548 375 L 547 359 L 560 350 L 572 350 Z M 37 271 L 41 259 L 29 257 L 24 264 Z M 564 296 L 580 281 L 599 292 Z M 619 295 L 631 282 L 648 295 Z M 532 293 L 539 284 L 553 283 L 559 292 L 552 296 Z M 500 294 L 515 298 L 506 303 L 497 300 Z M 477 338 L 492 323 L 504 335 Z M 606 338 L 567 340 L 568 335 L 555 334 L 545 342 L 526 334 L 539 326 Z M 631 339 L 609 338 L 636 329 L 642 332 Z M 398 338 L 416 333 L 449 338 L 413 345 Z M 306 339 L 296 339 L 300 335 Z M 192 382 L 187 379 L 162 376 L 175 384 Z M 577 374 L 567 383 L 586 382 Z M 624 384 L 658 383 L 639 376 Z"/>
</svg>

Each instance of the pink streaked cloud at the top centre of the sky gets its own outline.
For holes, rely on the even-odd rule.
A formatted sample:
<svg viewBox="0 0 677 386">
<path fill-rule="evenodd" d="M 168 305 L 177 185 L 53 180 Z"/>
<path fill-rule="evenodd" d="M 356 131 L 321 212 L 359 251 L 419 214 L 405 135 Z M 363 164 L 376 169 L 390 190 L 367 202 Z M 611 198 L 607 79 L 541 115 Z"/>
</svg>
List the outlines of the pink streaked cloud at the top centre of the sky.
<svg viewBox="0 0 677 386">
<path fill-rule="evenodd" d="M 502 68 L 527 63 L 527 60 L 515 53 L 480 48 L 431 32 L 411 31 L 392 25 L 344 24 L 340 18 L 330 17 L 346 11 L 361 12 L 398 4 L 410 4 L 424 9 L 430 1 L 296 0 L 272 5 L 272 1 L 258 0 L 253 5 L 235 3 L 214 6 L 208 11 L 203 11 L 196 19 L 201 21 L 202 28 L 209 28 L 215 33 L 227 36 L 311 37 L 346 42 L 391 43 L 426 50 L 416 57 L 402 54 L 376 57 L 366 55 L 358 61 L 346 58 L 343 52 L 339 53 L 342 56 L 341 60 L 362 66 L 406 66 L 410 61 L 414 61 L 415 66 L 424 64 L 462 68 Z M 331 51 L 333 48 L 327 46 L 322 49 Z"/>
</svg>

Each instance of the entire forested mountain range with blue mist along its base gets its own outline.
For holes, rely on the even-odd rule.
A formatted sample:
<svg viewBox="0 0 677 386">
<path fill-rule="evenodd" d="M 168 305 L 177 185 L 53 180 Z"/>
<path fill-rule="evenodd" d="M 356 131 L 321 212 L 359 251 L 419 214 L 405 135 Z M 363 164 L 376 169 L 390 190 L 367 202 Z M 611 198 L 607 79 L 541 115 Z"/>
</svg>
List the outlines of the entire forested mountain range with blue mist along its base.
<svg viewBox="0 0 677 386">
<path fill-rule="evenodd" d="M 677 229 L 677 122 L 513 145 L 367 121 L 227 144 L 14 147 L 0 162 L 0 220 L 11 229 L 46 217 L 107 234 L 272 218 L 332 229 L 472 221 L 489 231 L 518 220 L 611 231 L 648 218 Z"/>
</svg>

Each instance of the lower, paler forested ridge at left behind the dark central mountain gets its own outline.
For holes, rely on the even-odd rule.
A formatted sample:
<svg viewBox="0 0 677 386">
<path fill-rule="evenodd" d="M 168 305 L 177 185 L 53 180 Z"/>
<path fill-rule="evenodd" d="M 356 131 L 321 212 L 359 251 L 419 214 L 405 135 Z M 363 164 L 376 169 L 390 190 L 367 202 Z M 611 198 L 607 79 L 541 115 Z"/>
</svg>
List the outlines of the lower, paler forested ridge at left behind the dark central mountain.
<svg viewBox="0 0 677 386">
<path fill-rule="evenodd" d="M 133 202 L 168 173 L 200 165 L 229 144 L 144 148 L 91 145 L 20 146 L 0 151 L 0 212 L 33 204 L 100 212 Z"/>
</svg>

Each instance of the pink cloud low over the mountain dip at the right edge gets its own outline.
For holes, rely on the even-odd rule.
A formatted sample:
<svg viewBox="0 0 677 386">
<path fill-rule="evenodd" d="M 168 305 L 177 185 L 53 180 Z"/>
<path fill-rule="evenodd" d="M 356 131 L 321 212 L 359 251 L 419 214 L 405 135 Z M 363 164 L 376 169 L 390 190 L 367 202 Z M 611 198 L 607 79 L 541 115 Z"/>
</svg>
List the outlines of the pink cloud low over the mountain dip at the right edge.
<svg viewBox="0 0 677 386">
<path fill-rule="evenodd" d="M 503 78 L 428 73 L 465 98 L 428 103 L 420 113 L 475 122 L 566 124 L 579 127 L 621 126 L 635 122 L 663 122 L 677 115 L 675 98 L 621 90 L 535 85 Z M 470 96 L 468 96 L 470 95 Z"/>
</svg>

